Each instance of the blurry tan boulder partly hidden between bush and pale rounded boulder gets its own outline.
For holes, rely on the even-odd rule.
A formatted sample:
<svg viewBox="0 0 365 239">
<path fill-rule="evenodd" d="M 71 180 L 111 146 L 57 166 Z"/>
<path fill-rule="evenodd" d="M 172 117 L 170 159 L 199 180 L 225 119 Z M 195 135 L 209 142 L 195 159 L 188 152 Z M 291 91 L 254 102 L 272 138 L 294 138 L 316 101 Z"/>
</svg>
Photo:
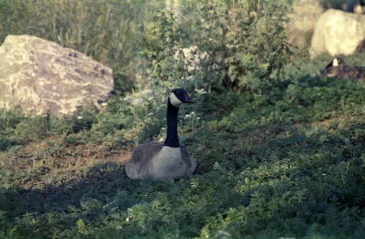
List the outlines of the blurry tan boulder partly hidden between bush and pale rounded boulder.
<svg viewBox="0 0 365 239">
<path fill-rule="evenodd" d="M 310 40 L 315 24 L 324 11 L 321 0 L 296 1 L 293 6 L 293 13 L 289 14 L 289 43 L 304 47 Z"/>
</svg>

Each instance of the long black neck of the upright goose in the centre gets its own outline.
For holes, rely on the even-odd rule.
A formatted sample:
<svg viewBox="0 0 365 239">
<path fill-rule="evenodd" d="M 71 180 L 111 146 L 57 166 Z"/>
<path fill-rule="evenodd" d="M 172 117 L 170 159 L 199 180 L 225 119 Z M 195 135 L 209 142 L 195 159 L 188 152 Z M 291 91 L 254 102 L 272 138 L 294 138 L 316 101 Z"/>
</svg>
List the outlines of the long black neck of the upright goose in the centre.
<svg viewBox="0 0 365 239">
<path fill-rule="evenodd" d="M 178 112 L 179 108 L 167 103 L 167 136 L 164 146 L 180 147 L 178 137 Z"/>
</svg>

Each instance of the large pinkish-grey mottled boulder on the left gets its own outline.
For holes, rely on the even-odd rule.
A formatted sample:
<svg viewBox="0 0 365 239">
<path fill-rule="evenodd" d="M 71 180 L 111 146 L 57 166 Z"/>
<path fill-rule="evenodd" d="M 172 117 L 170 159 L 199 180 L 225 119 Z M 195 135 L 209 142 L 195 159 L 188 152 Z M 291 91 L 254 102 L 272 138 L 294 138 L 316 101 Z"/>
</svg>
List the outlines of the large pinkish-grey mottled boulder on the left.
<svg viewBox="0 0 365 239">
<path fill-rule="evenodd" d="M 0 47 L 0 108 L 68 114 L 106 101 L 113 88 L 109 67 L 54 42 L 9 35 Z"/>
</svg>

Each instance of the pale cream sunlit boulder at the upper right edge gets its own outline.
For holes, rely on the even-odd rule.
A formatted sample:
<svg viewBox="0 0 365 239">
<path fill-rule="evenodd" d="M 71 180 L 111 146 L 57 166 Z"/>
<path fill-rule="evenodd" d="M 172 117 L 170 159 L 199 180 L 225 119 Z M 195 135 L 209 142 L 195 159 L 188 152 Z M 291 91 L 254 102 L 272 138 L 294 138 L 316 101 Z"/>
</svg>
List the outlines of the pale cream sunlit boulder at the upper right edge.
<svg viewBox="0 0 365 239">
<path fill-rule="evenodd" d="M 314 29 L 310 57 L 323 53 L 350 55 L 365 44 L 365 15 L 330 9 L 318 19 Z"/>
</svg>

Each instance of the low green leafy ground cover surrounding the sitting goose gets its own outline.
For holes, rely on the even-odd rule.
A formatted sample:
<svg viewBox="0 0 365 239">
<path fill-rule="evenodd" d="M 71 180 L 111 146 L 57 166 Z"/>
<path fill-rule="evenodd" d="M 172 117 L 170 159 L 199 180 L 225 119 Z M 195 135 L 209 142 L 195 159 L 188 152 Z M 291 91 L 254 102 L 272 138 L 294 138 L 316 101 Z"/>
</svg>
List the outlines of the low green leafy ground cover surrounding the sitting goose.
<svg viewBox="0 0 365 239">
<path fill-rule="evenodd" d="M 205 94 L 180 115 L 195 174 L 159 183 L 130 180 L 108 160 L 134 147 L 123 130 L 148 134 L 132 117 L 148 111 L 118 99 L 60 120 L 1 111 L 0 237 L 360 238 L 364 90 L 364 82 L 308 76 L 270 101 Z"/>
</svg>

